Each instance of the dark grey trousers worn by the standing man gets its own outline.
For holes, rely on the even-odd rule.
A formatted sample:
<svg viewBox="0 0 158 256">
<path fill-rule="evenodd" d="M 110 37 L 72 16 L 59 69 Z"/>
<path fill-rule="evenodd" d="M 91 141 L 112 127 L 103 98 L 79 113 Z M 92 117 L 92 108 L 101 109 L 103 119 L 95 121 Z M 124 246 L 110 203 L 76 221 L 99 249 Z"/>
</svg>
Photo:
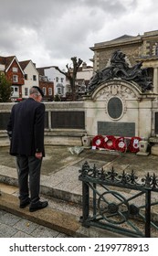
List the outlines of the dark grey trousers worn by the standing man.
<svg viewBox="0 0 158 256">
<path fill-rule="evenodd" d="M 35 156 L 16 156 L 18 168 L 18 184 L 20 202 L 25 202 L 29 197 L 31 204 L 39 201 L 40 168 L 42 159 Z"/>
</svg>

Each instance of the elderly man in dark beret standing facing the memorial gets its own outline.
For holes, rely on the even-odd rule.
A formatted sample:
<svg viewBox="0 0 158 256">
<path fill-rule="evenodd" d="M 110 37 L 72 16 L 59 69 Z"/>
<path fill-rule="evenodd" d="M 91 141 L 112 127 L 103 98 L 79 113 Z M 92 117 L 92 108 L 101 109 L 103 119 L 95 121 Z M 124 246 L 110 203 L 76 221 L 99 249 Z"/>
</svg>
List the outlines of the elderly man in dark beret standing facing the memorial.
<svg viewBox="0 0 158 256">
<path fill-rule="evenodd" d="M 43 96 L 43 91 L 33 86 L 29 98 L 13 106 L 7 124 L 10 155 L 16 156 L 18 167 L 20 208 L 30 204 L 30 212 L 48 205 L 47 201 L 39 200 L 40 169 L 45 156 L 45 105 L 40 102 Z"/>
</svg>

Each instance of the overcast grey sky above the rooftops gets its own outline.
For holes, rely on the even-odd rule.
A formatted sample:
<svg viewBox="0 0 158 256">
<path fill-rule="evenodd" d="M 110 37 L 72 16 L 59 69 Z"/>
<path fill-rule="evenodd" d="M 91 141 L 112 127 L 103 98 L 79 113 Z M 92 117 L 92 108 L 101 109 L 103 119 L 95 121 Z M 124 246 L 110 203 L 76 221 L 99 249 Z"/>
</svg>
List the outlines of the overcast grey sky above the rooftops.
<svg viewBox="0 0 158 256">
<path fill-rule="evenodd" d="M 157 0 L 0 0 L 0 56 L 60 69 L 95 43 L 158 30 Z"/>
</svg>

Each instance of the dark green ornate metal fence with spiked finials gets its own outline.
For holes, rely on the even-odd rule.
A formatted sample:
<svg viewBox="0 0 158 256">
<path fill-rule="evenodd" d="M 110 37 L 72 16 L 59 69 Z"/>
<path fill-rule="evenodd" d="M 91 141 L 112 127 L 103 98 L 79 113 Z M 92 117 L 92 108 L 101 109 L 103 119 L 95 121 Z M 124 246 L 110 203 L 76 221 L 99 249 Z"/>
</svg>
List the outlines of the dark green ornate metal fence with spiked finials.
<svg viewBox="0 0 158 256">
<path fill-rule="evenodd" d="M 85 162 L 79 170 L 82 181 L 84 227 L 95 226 L 129 237 L 158 236 L 158 177 L 140 178 L 124 171 L 119 175 L 92 168 Z M 157 214 L 156 214 L 157 210 Z"/>
</svg>

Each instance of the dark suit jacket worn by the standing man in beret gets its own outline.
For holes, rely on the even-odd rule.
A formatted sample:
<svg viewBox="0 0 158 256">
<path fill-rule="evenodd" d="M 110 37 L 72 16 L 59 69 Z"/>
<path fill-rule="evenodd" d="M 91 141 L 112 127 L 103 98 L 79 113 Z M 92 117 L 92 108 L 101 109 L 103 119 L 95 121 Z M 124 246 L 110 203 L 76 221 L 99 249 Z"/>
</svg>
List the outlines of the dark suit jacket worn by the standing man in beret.
<svg viewBox="0 0 158 256">
<path fill-rule="evenodd" d="M 32 98 L 13 106 L 7 133 L 11 137 L 10 155 L 35 156 L 44 148 L 45 105 Z"/>
</svg>

